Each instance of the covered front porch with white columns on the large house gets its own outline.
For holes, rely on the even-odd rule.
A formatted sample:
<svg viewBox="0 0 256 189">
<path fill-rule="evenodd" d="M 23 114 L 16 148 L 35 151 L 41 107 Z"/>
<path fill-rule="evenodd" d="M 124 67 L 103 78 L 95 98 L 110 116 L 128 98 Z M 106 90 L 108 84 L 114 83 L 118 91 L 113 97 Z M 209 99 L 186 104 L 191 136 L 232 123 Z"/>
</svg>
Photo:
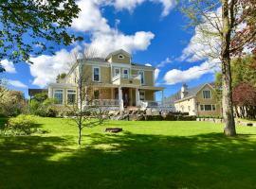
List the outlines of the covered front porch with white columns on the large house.
<svg viewBox="0 0 256 189">
<path fill-rule="evenodd" d="M 92 105 L 116 107 L 120 111 L 126 108 L 154 108 L 162 107 L 163 102 L 155 101 L 155 93 L 161 92 L 162 87 L 97 84 L 92 87 Z"/>
</svg>

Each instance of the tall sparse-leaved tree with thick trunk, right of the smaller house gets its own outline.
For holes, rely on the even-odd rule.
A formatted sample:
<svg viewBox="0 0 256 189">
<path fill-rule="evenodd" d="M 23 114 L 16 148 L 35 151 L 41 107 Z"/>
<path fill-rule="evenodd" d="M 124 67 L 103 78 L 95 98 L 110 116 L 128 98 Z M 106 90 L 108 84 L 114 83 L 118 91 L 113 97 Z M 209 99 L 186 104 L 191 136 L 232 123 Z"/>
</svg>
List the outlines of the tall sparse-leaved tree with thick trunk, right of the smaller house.
<svg viewBox="0 0 256 189">
<path fill-rule="evenodd" d="M 247 11 L 247 6 L 250 11 Z M 244 36 L 243 40 L 236 35 L 241 24 L 247 25 L 248 30 L 251 30 L 252 27 L 249 26 L 256 23 L 255 17 L 251 18 L 255 11 L 255 2 L 254 0 L 191 0 L 183 2 L 182 11 L 190 19 L 190 26 L 195 26 L 201 33 L 202 38 L 197 43 L 209 49 L 200 56 L 221 62 L 224 132 L 228 136 L 234 136 L 236 130 L 232 106 L 230 59 L 255 39 L 255 30 L 251 35 Z M 235 38 L 239 40 L 239 45 L 235 45 Z"/>
</svg>

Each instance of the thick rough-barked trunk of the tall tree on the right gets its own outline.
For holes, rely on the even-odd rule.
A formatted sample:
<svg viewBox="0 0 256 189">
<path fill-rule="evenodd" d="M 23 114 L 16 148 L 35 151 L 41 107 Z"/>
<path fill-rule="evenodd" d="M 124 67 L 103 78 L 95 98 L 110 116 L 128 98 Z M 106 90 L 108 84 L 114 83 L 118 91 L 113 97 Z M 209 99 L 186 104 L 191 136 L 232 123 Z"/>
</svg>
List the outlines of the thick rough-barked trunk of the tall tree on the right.
<svg viewBox="0 0 256 189">
<path fill-rule="evenodd" d="M 232 106 L 232 89 L 231 89 L 231 71 L 230 71 L 230 34 L 231 28 L 229 23 L 229 0 L 222 0 L 222 20 L 223 33 L 221 44 L 221 60 L 222 60 L 222 106 L 223 117 L 225 121 L 224 133 L 227 136 L 236 135 L 235 122 Z"/>
</svg>

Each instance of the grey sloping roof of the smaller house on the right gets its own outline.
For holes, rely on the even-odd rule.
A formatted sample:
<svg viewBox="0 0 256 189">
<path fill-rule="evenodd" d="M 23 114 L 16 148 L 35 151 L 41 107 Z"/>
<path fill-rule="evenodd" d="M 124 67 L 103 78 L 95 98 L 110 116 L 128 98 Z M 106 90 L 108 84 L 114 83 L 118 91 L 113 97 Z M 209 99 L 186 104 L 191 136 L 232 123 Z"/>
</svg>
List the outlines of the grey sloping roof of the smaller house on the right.
<svg viewBox="0 0 256 189">
<path fill-rule="evenodd" d="M 182 101 L 185 99 L 190 99 L 190 98 L 194 97 L 206 85 L 210 86 L 211 88 L 214 88 L 214 83 L 204 83 L 204 84 L 198 85 L 196 87 L 187 89 L 187 93 L 184 95 L 183 98 L 181 98 L 181 91 L 179 90 L 177 93 L 167 97 L 166 101 L 175 102 L 175 101 Z"/>
</svg>

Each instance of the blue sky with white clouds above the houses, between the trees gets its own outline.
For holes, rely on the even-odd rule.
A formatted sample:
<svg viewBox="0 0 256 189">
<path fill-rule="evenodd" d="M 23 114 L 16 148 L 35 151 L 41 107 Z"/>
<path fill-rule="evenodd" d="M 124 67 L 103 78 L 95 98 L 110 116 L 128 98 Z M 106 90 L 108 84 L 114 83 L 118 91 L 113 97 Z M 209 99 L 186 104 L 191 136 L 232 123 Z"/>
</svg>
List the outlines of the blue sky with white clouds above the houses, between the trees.
<svg viewBox="0 0 256 189">
<path fill-rule="evenodd" d="M 137 63 L 154 66 L 155 85 L 174 94 L 183 83 L 193 87 L 212 82 L 213 63 L 195 52 L 205 50 L 196 43 L 202 36 L 196 28 L 185 29 L 187 20 L 175 0 L 79 0 L 82 11 L 68 31 L 82 35 L 81 43 L 55 45 L 55 55 L 32 57 L 33 64 L 1 60 L 9 88 L 23 91 L 46 88 L 58 74 L 66 72 L 70 52 L 93 47 L 107 55 L 120 48 Z M 157 94 L 157 99 L 161 94 Z"/>
</svg>

